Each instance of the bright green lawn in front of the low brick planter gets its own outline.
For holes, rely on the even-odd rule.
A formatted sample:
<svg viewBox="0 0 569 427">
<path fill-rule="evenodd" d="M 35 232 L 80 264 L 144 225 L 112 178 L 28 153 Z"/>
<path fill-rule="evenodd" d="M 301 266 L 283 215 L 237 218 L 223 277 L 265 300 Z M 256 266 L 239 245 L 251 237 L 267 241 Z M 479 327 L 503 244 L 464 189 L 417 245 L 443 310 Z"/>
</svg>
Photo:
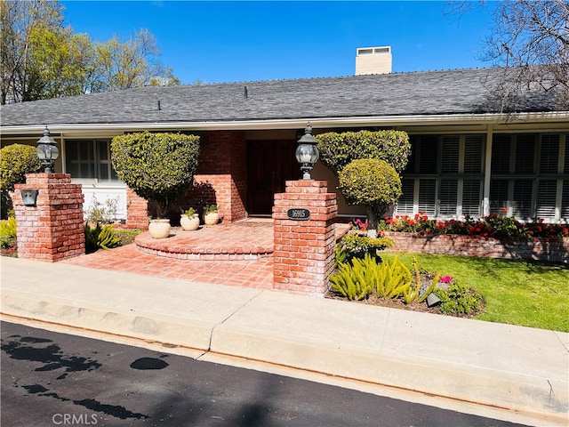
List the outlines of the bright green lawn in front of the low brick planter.
<svg viewBox="0 0 569 427">
<path fill-rule="evenodd" d="M 569 332 L 568 265 L 436 254 L 384 252 L 381 257 L 396 255 L 407 266 L 416 256 L 422 269 L 477 289 L 486 302 L 477 319 Z"/>
</svg>

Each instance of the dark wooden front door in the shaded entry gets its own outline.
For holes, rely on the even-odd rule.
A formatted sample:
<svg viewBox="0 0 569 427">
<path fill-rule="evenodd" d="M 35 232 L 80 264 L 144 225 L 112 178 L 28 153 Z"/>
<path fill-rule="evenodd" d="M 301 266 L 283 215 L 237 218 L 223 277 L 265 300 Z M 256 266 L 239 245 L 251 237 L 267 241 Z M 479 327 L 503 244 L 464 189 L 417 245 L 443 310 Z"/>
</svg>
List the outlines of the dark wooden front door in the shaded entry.
<svg viewBox="0 0 569 427">
<path fill-rule="evenodd" d="M 284 192 L 285 181 L 300 178 L 296 146 L 296 141 L 247 141 L 248 214 L 272 214 L 273 195 Z"/>
</svg>

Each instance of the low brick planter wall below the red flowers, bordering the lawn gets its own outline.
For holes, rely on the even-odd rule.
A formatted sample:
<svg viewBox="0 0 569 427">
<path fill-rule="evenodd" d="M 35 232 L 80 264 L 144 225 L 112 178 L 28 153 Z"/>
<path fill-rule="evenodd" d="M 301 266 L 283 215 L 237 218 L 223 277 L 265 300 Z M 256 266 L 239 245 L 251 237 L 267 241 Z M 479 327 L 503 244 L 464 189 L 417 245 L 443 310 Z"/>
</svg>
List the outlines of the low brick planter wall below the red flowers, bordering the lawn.
<svg viewBox="0 0 569 427">
<path fill-rule="evenodd" d="M 385 236 L 395 241 L 395 247 L 387 250 L 569 262 L 569 238 L 484 238 L 456 234 L 421 236 L 401 232 L 386 232 Z"/>
</svg>

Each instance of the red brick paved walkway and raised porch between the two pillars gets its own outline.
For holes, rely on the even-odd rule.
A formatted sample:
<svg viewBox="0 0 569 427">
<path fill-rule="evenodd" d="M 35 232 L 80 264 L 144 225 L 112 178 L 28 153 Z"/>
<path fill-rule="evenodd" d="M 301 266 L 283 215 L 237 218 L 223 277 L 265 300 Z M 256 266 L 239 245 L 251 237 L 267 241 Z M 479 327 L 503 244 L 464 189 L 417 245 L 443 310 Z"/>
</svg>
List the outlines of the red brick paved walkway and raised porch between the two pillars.
<svg viewBox="0 0 569 427">
<path fill-rule="evenodd" d="M 180 247 L 183 238 L 189 247 L 200 246 L 205 252 L 209 251 L 211 254 L 221 250 L 222 247 L 243 248 L 243 251 L 247 252 L 246 247 L 250 245 L 265 249 L 270 246 L 272 252 L 271 222 L 236 222 L 196 231 L 173 230 L 173 233 L 180 234 L 179 238 L 159 239 L 163 241 L 160 245 L 167 246 L 168 240 L 171 240 L 173 246 Z M 147 240 L 144 235 L 140 235 L 140 238 Z M 93 254 L 76 256 L 61 262 L 93 269 L 125 271 L 161 278 L 182 278 L 196 282 L 260 289 L 273 288 L 272 256 L 235 261 L 188 260 L 144 254 L 135 244 L 132 244 L 109 251 L 99 250 Z"/>
</svg>

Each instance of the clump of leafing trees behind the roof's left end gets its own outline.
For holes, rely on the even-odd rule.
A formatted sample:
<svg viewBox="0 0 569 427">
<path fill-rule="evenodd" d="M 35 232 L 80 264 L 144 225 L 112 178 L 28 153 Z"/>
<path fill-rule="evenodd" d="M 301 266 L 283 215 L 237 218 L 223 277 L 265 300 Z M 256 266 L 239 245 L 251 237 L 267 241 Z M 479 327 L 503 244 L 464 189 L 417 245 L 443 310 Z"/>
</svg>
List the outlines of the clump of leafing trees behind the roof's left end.
<svg viewBox="0 0 569 427">
<path fill-rule="evenodd" d="M 55 0 L 2 0 L 2 104 L 96 93 L 143 85 L 179 85 L 157 60 L 156 38 L 140 29 L 121 42 L 93 43 L 65 27 Z"/>
</svg>

